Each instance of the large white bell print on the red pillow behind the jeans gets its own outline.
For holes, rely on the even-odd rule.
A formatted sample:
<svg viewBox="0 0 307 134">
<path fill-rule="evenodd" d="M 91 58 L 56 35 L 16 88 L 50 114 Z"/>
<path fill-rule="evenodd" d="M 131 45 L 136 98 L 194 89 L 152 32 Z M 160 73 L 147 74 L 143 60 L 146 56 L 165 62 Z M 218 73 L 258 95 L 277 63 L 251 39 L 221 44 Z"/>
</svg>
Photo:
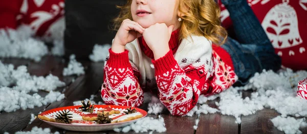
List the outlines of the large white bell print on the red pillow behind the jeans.
<svg viewBox="0 0 307 134">
<path fill-rule="evenodd" d="M 288 48 L 299 45 L 303 42 L 299 35 L 297 14 L 289 5 L 289 0 L 275 5 L 262 21 L 274 48 Z M 294 52 L 289 51 L 289 56 Z"/>
</svg>

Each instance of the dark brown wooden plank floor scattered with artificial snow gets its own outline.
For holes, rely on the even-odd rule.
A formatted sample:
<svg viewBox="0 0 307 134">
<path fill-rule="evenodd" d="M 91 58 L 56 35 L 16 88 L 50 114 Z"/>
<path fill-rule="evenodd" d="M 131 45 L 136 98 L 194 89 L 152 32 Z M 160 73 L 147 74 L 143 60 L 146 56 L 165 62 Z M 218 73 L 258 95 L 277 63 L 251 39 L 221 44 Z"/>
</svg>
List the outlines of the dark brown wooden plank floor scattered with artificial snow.
<svg viewBox="0 0 307 134">
<path fill-rule="evenodd" d="M 28 71 L 32 75 L 47 76 L 48 74 L 56 75 L 61 81 L 66 83 L 66 87 L 59 88 L 65 94 L 65 99 L 56 101 L 34 109 L 18 110 L 16 112 L 0 114 L 0 133 L 15 132 L 15 131 L 30 131 L 32 127 L 51 128 L 52 132 L 58 131 L 60 133 L 117 133 L 111 131 L 101 132 L 77 132 L 62 130 L 47 123 L 35 119 L 29 124 L 31 113 L 37 115 L 39 112 L 51 110 L 61 106 L 73 105 L 74 101 L 90 98 L 91 95 L 96 94 L 95 101 L 102 101 L 100 97 L 100 87 L 103 79 L 103 63 L 94 63 L 89 61 L 82 62 L 85 67 L 85 75 L 77 76 L 62 76 L 62 70 L 67 66 L 68 61 L 61 58 L 47 56 L 40 62 L 35 63 L 30 60 L 20 59 L 1 59 L 3 63 L 10 63 L 16 66 L 26 65 Z M 43 91 L 38 92 L 39 95 L 45 96 L 47 93 Z M 250 96 L 250 92 L 245 92 L 244 97 Z M 216 107 L 214 101 L 207 102 L 210 106 Z M 141 109 L 147 111 L 147 105 L 141 106 Z M 242 116 L 242 124 L 236 124 L 235 118 L 232 116 L 225 116 L 221 114 L 202 114 L 200 117 L 194 115 L 193 117 L 174 117 L 167 111 L 163 112 L 161 116 L 164 118 L 167 131 L 164 133 L 283 133 L 277 130 L 270 121 L 270 119 L 279 115 L 274 110 L 265 109 L 249 116 Z M 148 115 L 157 117 L 156 115 Z M 195 120 L 200 120 L 198 128 L 193 129 Z M 307 133 L 307 128 L 301 129 L 303 133 Z M 130 131 L 128 133 L 135 133 Z M 155 133 L 155 132 L 154 132 Z"/>
</svg>

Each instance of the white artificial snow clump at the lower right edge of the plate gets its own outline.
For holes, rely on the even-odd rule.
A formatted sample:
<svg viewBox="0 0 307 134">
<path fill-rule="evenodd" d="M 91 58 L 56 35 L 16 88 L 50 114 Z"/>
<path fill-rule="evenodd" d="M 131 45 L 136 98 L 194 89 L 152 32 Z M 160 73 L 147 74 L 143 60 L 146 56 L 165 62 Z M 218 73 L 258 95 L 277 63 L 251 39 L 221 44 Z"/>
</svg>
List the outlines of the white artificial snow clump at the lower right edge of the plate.
<svg viewBox="0 0 307 134">
<path fill-rule="evenodd" d="M 130 124 L 128 126 L 125 126 L 123 128 L 115 128 L 114 131 L 116 132 L 128 132 L 130 130 L 134 130 L 136 133 L 139 132 L 165 132 L 165 123 L 164 119 L 159 116 L 158 119 L 153 119 L 152 117 L 144 117 L 137 122 Z"/>
</svg>

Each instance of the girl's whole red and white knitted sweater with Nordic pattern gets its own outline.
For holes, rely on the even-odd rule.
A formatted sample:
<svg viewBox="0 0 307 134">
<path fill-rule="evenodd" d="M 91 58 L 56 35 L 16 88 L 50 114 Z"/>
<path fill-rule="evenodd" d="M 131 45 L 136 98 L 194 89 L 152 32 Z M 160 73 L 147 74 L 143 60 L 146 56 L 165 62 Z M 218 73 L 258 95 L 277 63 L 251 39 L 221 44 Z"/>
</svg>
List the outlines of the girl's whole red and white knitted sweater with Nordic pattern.
<svg viewBox="0 0 307 134">
<path fill-rule="evenodd" d="M 220 93 L 237 80 L 228 53 L 221 47 L 212 50 L 212 42 L 205 37 L 193 35 L 192 40 L 178 44 L 177 30 L 169 42 L 171 50 L 158 60 L 152 60 L 152 51 L 142 38 L 128 43 L 122 53 L 110 49 L 101 90 L 104 102 L 137 107 L 143 103 L 144 92 L 158 92 L 172 115 L 183 116 L 201 94 Z"/>
</svg>

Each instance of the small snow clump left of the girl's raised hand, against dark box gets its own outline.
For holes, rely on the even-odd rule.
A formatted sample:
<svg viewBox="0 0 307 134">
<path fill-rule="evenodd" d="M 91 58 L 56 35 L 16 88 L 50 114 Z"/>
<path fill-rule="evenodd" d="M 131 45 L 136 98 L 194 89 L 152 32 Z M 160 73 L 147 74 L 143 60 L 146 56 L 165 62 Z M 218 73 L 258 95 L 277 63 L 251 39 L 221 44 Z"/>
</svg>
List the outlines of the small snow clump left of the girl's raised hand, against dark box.
<svg viewBox="0 0 307 134">
<path fill-rule="evenodd" d="M 108 56 L 108 50 L 111 48 L 111 45 L 104 44 L 98 45 L 95 44 L 93 53 L 90 55 L 90 59 L 93 62 L 105 61 L 106 57 Z"/>
</svg>

